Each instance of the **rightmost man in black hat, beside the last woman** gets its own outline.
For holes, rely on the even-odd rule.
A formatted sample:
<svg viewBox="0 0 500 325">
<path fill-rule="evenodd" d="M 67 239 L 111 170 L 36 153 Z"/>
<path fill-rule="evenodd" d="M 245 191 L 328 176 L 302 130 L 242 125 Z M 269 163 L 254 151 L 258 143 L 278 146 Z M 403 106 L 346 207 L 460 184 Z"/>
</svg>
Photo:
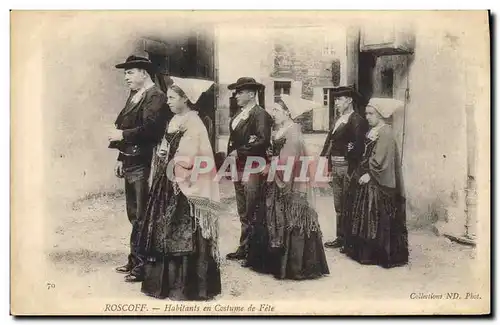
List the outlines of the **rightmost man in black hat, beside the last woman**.
<svg viewBox="0 0 500 325">
<path fill-rule="evenodd" d="M 354 110 L 353 101 L 359 102 L 362 96 L 354 87 L 338 87 L 333 89 L 335 109 L 338 118 L 333 128 L 328 132 L 320 156 L 328 159 L 328 170 L 331 173 L 333 200 L 337 218 L 337 238 L 325 243 L 326 247 L 340 248 L 343 246 L 344 220 L 342 203 L 344 189 L 352 172 L 358 166 L 365 150 L 365 135 L 368 124 L 364 117 Z"/>
</svg>

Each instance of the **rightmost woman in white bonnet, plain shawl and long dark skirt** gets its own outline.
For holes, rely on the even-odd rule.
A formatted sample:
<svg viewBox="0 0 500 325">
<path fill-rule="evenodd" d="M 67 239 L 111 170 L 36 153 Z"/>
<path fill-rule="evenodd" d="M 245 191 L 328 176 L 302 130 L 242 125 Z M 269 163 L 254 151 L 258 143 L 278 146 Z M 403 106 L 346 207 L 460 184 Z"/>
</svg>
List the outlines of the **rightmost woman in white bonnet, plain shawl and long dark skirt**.
<svg viewBox="0 0 500 325">
<path fill-rule="evenodd" d="M 343 252 L 384 268 L 408 263 L 408 232 L 401 161 L 387 121 L 399 103 L 372 98 L 366 107 L 366 149 L 346 194 Z"/>
</svg>

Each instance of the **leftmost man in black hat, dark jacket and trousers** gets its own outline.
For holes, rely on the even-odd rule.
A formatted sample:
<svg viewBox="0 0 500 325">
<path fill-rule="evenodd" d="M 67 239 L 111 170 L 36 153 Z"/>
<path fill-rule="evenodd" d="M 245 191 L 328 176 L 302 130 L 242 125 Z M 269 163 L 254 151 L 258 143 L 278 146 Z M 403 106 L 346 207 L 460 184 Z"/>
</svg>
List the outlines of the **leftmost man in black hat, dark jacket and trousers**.
<svg viewBox="0 0 500 325">
<path fill-rule="evenodd" d="M 108 140 L 110 148 L 119 150 L 115 174 L 125 178 L 127 216 L 132 224 L 128 262 L 116 271 L 127 274 L 125 281 L 136 282 L 144 276 L 144 261 L 134 243 L 134 234 L 146 208 L 153 149 L 163 135 L 168 107 L 165 93 L 151 79 L 151 61 L 129 56 L 116 68 L 124 69 L 130 95 Z"/>
</svg>

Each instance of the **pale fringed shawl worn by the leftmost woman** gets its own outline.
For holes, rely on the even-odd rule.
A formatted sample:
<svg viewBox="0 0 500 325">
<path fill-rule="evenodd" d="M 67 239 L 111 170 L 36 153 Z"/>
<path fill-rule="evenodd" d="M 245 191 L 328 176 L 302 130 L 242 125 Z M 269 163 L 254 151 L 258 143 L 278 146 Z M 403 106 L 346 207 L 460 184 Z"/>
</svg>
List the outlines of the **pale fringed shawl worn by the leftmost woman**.
<svg viewBox="0 0 500 325">
<path fill-rule="evenodd" d="M 194 111 L 187 113 L 180 125 L 184 134 L 174 156 L 176 160 L 174 175 L 180 191 L 187 197 L 191 214 L 195 217 L 196 227 L 201 228 L 203 238 L 210 241 L 212 257 L 220 265 L 219 253 L 219 216 L 224 211 L 220 203 L 219 184 L 214 180 L 215 166 L 210 172 L 198 173 L 192 179 L 196 157 L 203 157 L 209 163 L 214 163 L 212 146 L 205 125 Z M 199 163 L 197 163 L 199 164 Z M 197 168 L 200 166 L 198 165 Z"/>
</svg>

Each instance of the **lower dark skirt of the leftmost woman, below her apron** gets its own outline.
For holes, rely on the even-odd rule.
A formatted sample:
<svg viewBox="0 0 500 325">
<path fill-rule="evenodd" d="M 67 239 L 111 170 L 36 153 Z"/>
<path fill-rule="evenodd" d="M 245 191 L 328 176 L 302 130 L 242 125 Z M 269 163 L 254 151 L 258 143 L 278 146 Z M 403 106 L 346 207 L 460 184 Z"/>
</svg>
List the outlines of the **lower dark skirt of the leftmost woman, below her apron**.
<svg viewBox="0 0 500 325">
<path fill-rule="evenodd" d="M 220 270 L 211 255 L 211 245 L 195 232 L 196 253 L 165 256 L 148 262 L 141 291 L 159 299 L 210 300 L 221 293 Z"/>
</svg>

